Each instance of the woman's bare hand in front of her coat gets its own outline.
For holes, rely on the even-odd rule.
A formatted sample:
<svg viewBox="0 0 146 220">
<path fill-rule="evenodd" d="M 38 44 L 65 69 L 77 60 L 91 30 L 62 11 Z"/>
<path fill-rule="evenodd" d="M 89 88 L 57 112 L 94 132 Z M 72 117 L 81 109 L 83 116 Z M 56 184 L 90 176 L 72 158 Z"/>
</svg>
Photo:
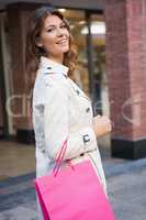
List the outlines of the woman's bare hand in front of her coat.
<svg viewBox="0 0 146 220">
<path fill-rule="evenodd" d="M 98 114 L 93 118 L 93 130 L 97 138 L 100 138 L 112 130 L 111 120 L 105 116 Z"/>
</svg>

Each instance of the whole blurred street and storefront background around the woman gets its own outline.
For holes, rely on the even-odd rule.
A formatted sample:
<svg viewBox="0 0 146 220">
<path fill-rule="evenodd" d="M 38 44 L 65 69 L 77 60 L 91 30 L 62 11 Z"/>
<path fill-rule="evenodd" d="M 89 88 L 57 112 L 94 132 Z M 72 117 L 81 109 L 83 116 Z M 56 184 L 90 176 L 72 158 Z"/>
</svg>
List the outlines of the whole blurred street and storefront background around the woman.
<svg viewBox="0 0 146 220">
<path fill-rule="evenodd" d="M 111 134 L 98 142 L 117 220 L 146 219 L 146 1 L 0 0 L 0 220 L 36 219 L 24 48 L 27 18 L 41 6 L 68 20 L 76 81 L 93 114 L 112 120 Z"/>
</svg>

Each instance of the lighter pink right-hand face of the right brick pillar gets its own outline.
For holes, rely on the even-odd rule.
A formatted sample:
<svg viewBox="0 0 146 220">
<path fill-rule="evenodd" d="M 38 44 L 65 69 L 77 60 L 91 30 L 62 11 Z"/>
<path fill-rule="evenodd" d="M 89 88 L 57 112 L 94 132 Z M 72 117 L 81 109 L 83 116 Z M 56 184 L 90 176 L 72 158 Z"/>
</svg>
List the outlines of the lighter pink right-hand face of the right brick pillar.
<svg viewBox="0 0 146 220">
<path fill-rule="evenodd" d="M 126 11 L 132 117 L 138 122 L 133 139 L 137 140 L 146 138 L 146 1 L 127 1 Z"/>
</svg>

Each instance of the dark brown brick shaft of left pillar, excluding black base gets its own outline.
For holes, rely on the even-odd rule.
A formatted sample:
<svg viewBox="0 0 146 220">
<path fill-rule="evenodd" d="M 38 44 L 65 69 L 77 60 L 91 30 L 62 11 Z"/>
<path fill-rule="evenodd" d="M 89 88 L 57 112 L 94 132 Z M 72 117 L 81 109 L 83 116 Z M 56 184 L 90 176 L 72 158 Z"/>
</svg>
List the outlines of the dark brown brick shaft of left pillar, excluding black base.
<svg viewBox="0 0 146 220">
<path fill-rule="evenodd" d="M 29 99 L 25 96 L 24 46 L 29 12 L 20 4 L 8 8 L 9 34 L 13 79 L 13 123 L 15 130 L 31 129 L 27 117 Z"/>
</svg>

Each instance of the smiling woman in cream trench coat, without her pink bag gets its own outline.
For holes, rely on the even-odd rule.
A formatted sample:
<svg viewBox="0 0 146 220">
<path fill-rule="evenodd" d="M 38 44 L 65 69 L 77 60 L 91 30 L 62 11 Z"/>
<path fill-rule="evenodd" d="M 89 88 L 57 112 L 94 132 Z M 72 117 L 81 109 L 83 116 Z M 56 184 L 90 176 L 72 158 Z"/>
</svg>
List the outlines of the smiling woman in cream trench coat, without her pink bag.
<svg viewBox="0 0 146 220">
<path fill-rule="evenodd" d="M 105 189 L 97 138 L 111 131 L 110 120 L 92 117 L 90 99 L 74 82 L 76 53 L 67 21 L 53 8 L 37 9 L 29 21 L 26 70 L 33 86 L 36 175 L 52 172 L 64 141 L 64 157 L 90 158 Z M 41 217 L 38 218 L 41 219 Z"/>
</svg>

